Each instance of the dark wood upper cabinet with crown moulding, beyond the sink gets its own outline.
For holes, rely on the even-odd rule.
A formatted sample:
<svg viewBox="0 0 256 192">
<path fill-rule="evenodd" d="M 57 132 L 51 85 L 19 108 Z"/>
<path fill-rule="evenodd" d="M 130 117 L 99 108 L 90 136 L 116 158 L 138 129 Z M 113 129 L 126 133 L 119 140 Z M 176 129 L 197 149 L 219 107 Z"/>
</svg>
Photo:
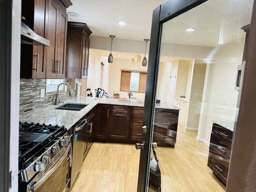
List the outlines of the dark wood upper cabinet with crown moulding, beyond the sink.
<svg viewBox="0 0 256 192">
<path fill-rule="evenodd" d="M 91 33 L 86 23 L 68 22 L 65 71 L 67 78 L 87 78 Z"/>
</svg>

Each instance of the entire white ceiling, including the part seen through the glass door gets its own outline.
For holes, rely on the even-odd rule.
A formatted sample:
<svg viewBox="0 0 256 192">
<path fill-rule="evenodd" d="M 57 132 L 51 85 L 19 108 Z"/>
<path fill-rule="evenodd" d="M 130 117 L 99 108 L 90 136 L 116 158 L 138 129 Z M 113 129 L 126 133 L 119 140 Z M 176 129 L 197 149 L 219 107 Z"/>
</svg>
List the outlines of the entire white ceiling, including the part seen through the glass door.
<svg viewBox="0 0 256 192">
<path fill-rule="evenodd" d="M 152 11 L 165 0 L 71 0 L 67 12 L 80 17 L 69 21 L 85 22 L 92 35 L 120 39 L 150 39 Z M 253 0 L 209 0 L 202 5 L 166 22 L 163 42 L 214 47 L 239 41 L 245 33 L 241 27 L 250 23 Z M 126 26 L 119 26 L 125 21 Z M 188 33 L 185 28 L 193 27 Z M 109 37 L 110 38 L 110 37 Z"/>
</svg>

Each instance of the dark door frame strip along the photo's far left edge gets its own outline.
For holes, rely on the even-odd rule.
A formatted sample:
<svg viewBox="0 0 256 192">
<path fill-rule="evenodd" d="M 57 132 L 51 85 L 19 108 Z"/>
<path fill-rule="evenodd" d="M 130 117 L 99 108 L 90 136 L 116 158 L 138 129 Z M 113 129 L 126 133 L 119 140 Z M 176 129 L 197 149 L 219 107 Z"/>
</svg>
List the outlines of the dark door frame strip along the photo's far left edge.
<svg viewBox="0 0 256 192">
<path fill-rule="evenodd" d="M 0 191 L 9 191 L 12 0 L 0 4 Z"/>
</svg>

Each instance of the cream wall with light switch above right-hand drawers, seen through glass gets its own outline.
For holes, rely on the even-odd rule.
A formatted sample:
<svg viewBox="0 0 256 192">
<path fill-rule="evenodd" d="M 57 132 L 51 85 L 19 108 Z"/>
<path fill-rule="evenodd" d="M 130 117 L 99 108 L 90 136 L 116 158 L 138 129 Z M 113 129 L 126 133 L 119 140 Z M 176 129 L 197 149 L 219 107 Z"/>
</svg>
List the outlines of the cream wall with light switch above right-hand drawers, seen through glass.
<svg viewBox="0 0 256 192">
<path fill-rule="evenodd" d="M 210 141 L 212 120 L 234 120 L 238 92 L 234 89 L 237 65 L 242 62 L 245 39 L 217 46 L 208 57 L 198 139 Z M 222 99 L 226 105 L 221 105 Z"/>
</svg>

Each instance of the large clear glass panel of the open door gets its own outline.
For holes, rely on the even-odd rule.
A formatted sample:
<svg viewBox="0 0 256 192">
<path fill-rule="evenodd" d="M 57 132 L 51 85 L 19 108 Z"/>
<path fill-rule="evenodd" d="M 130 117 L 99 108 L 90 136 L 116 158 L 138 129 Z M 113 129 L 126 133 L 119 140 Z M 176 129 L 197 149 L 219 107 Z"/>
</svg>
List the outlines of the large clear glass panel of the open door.
<svg viewBox="0 0 256 192">
<path fill-rule="evenodd" d="M 146 191 L 225 191 L 252 4 L 208 0 L 163 23 Z"/>
</svg>

